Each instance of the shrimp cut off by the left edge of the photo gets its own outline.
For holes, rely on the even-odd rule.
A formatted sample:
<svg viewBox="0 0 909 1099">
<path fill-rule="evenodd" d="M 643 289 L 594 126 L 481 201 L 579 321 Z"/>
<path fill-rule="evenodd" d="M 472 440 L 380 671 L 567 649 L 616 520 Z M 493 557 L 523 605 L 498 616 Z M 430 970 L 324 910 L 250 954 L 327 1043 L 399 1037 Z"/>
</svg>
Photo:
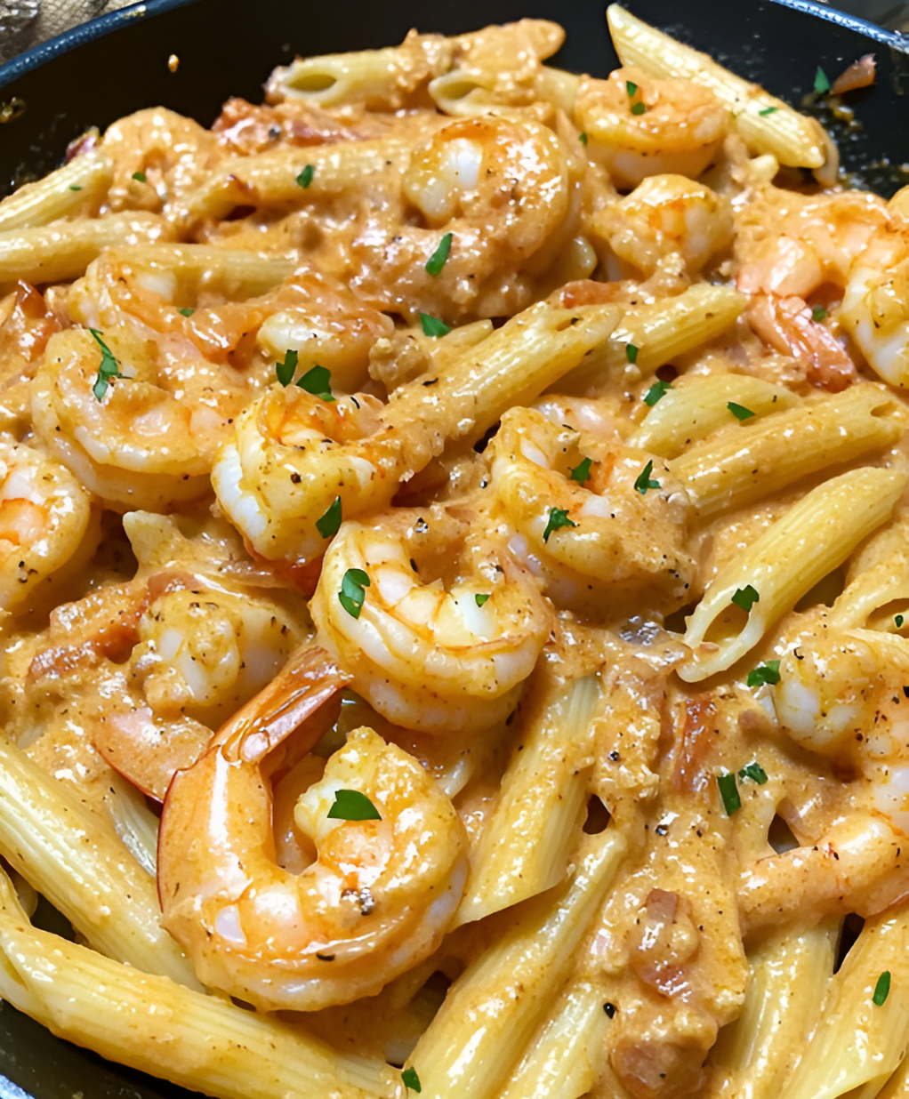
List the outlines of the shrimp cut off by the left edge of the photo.
<svg viewBox="0 0 909 1099">
<path fill-rule="evenodd" d="M 19 613 L 59 598 L 100 535 L 99 517 L 66 466 L 0 443 L 0 609 Z"/>
</svg>

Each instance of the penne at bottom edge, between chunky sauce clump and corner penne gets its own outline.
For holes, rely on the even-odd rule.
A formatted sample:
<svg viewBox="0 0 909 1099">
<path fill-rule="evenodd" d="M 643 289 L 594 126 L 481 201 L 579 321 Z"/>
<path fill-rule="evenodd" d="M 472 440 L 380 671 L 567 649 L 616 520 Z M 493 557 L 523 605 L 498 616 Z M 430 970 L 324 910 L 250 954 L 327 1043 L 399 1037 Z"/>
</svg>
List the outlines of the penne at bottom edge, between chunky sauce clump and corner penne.
<svg viewBox="0 0 909 1099">
<path fill-rule="evenodd" d="M 818 1024 L 836 961 L 839 920 L 774 937 L 750 956 L 751 981 L 739 1018 L 710 1054 L 709 1099 L 775 1099 Z"/>
</svg>

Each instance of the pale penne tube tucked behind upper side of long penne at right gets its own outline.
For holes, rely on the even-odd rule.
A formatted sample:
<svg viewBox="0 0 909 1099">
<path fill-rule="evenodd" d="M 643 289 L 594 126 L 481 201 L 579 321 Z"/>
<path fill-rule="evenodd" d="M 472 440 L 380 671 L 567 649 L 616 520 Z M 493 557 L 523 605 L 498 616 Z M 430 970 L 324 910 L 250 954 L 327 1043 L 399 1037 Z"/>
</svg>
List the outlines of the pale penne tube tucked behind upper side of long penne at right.
<svg viewBox="0 0 909 1099">
<path fill-rule="evenodd" d="M 690 443 L 736 424 L 730 401 L 741 404 L 755 418 L 799 403 L 790 390 L 747 374 L 692 377 L 659 398 L 629 442 L 661 458 L 678 457 Z"/>
</svg>

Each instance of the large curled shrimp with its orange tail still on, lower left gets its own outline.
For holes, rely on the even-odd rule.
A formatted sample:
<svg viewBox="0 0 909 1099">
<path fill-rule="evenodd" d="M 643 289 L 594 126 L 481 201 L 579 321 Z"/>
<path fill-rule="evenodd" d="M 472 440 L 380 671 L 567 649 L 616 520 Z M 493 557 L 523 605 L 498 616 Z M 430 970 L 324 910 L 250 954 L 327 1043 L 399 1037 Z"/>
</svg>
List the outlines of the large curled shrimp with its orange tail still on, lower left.
<svg viewBox="0 0 909 1099">
<path fill-rule="evenodd" d="M 376 995 L 437 947 L 467 876 L 451 801 L 408 753 L 358 729 L 296 803 L 315 861 L 274 861 L 273 776 L 337 713 L 344 676 L 296 657 L 174 778 L 158 846 L 164 925 L 200 979 L 264 1010 L 314 1011 Z M 299 733 L 295 736 L 295 732 Z M 379 819 L 331 819 L 340 790 Z"/>
</svg>

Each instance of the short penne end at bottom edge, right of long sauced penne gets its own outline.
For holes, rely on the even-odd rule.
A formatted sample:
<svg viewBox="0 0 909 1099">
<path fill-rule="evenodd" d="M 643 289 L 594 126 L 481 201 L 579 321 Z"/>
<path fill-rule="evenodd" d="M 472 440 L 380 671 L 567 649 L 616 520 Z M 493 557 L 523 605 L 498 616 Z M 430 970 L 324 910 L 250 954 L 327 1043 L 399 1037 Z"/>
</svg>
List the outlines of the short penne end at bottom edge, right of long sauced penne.
<svg viewBox="0 0 909 1099">
<path fill-rule="evenodd" d="M 597 1083 L 594 1066 L 609 1030 L 603 997 L 589 981 L 565 992 L 529 1044 L 501 1099 L 579 1099 Z"/>
</svg>

